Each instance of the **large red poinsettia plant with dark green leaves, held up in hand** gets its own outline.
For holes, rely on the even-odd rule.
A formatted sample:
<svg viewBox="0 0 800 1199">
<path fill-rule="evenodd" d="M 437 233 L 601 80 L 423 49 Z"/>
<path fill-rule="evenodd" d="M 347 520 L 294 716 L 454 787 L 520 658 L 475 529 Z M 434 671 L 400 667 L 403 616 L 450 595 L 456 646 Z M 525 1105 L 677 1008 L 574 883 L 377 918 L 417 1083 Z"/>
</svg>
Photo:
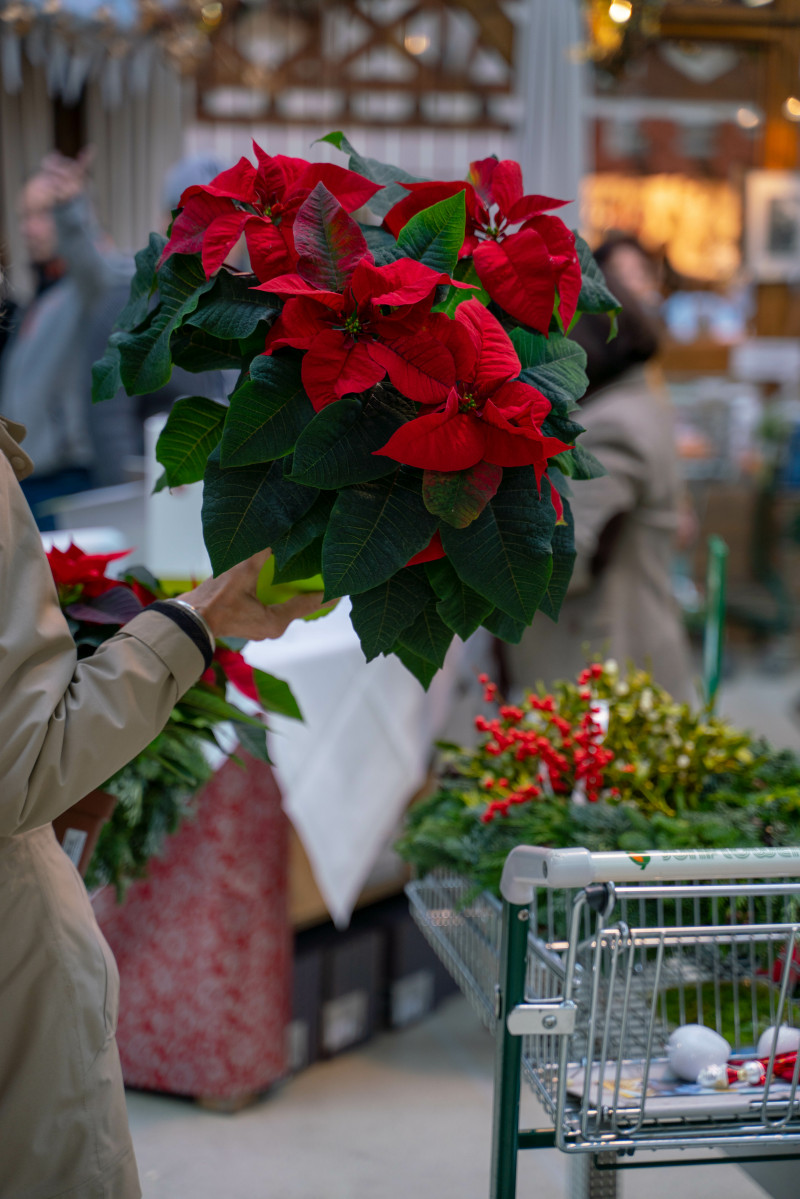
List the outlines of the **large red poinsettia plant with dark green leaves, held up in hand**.
<svg viewBox="0 0 800 1199">
<path fill-rule="evenodd" d="M 567 478 L 600 470 L 569 332 L 618 305 L 517 163 L 415 180 L 323 141 L 347 168 L 254 145 L 186 189 L 137 255 L 95 399 L 154 391 L 173 363 L 236 367 L 228 404 L 179 400 L 157 447 L 166 486 L 204 482 L 215 571 L 271 546 L 276 583 L 321 574 L 367 658 L 427 686 L 453 635 L 558 616 Z M 228 261 L 242 239 L 248 271 Z"/>
</svg>

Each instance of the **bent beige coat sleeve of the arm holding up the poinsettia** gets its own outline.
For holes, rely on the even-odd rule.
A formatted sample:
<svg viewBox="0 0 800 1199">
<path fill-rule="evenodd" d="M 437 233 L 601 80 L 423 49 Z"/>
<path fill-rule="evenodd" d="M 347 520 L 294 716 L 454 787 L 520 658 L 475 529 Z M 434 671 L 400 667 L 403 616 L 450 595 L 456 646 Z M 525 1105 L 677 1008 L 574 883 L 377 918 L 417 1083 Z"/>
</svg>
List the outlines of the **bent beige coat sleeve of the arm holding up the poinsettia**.
<svg viewBox="0 0 800 1199">
<path fill-rule="evenodd" d="M 136 757 L 203 669 L 178 625 L 146 610 L 78 662 L 0 452 L 0 837 L 47 824 Z"/>
</svg>

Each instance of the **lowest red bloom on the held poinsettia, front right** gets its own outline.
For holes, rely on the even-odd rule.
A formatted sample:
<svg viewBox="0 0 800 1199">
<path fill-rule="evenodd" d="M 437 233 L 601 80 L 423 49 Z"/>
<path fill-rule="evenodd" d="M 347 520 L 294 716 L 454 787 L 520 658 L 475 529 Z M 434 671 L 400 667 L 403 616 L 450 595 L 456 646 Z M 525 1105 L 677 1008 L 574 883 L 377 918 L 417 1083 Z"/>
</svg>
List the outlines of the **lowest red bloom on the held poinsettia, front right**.
<svg viewBox="0 0 800 1199">
<path fill-rule="evenodd" d="M 517 379 L 519 359 L 509 335 L 477 300 L 461 303 L 452 320 L 434 320 L 456 382 L 435 411 L 401 426 L 375 452 L 422 470 L 530 465 L 541 483 L 548 458 L 570 447 L 542 434 L 551 402 Z"/>
</svg>

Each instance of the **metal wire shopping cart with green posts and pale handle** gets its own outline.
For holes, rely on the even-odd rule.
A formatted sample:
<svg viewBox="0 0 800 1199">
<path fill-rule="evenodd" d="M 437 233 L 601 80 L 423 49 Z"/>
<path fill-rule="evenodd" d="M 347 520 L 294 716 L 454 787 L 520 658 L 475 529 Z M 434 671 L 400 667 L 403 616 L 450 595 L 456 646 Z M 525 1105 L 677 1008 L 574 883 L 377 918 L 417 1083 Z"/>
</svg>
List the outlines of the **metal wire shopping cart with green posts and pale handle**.
<svg viewBox="0 0 800 1199">
<path fill-rule="evenodd" d="M 800 849 L 518 846 L 503 902 L 456 875 L 409 884 L 420 928 L 497 1034 L 492 1199 L 513 1199 L 522 1149 L 575 1155 L 593 1195 L 613 1195 L 615 1169 L 645 1149 L 800 1153 L 800 1055 L 776 1071 L 777 1032 L 759 1084 L 680 1083 L 666 1060 L 682 1024 L 722 1034 L 733 1061 L 754 1059 L 768 1028 L 800 1026 L 799 880 Z M 553 1129 L 519 1128 L 523 1073 Z"/>
</svg>

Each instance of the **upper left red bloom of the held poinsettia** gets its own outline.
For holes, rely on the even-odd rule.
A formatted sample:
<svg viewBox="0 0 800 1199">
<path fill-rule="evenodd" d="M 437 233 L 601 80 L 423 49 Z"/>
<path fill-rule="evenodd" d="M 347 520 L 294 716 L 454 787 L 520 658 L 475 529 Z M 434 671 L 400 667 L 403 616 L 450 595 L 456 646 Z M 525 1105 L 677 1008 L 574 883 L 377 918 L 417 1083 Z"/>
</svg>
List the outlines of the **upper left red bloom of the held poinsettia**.
<svg viewBox="0 0 800 1199">
<path fill-rule="evenodd" d="M 210 183 L 186 188 L 162 263 L 174 253 L 201 252 L 210 278 L 243 234 L 253 271 L 264 283 L 294 270 L 294 219 L 317 183 L 323 182 L 348 212 L 366 204 L 383 186 L 331 163 L 270 156 L 255 141 L 253 151 L 258 167 L 240 158 Z"/>
</svg>

